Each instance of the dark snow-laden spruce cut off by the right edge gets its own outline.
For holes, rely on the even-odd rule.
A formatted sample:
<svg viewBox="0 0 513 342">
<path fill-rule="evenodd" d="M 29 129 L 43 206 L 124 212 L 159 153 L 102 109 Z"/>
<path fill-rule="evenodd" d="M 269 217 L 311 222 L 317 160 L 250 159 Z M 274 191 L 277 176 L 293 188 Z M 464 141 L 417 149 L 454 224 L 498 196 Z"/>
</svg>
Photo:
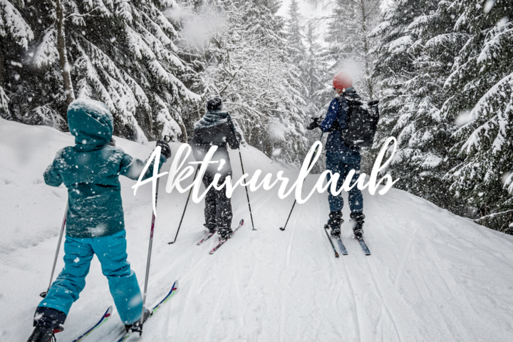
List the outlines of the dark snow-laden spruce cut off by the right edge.
<svg viewBox="0 0 513 342">
<path fill-rule="evenodd" d="M 455 31 L 467 34 L 445 89 L 442 114 L 459 121 L 452 190 L 477 222 L 513 232 L 513 1 L 455 0 Z"/>
</svg>

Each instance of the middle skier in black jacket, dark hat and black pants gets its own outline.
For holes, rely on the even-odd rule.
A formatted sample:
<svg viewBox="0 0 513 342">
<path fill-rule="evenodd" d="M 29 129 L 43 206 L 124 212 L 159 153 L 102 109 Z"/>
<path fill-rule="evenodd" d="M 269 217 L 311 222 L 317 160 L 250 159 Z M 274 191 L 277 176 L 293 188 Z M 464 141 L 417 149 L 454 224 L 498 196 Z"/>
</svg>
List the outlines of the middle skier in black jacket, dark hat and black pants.
<svg viewBox="0 0 513 342">
<path fill-rule="evenodd" d="M 203 184 L 208 187 L 214 180 L 214 175 L 222 175 L 219 184 L 224 182 L 228 175 L 232 175 L 227 146 L 232 150 L 239 148 L 240 135 L 235 129 L 232 117 L 222 110 L 222 100 L 219 97 L 207 101 L 207 113 L 195 123 L 194 138 L 192 139 L 192 153 L 197 161 L 204 160 L 210 147 L 217 145 L 217 151 L 203 177 Z M 232 235 L 232 201 L 226 196 L 226 188 L 215 190 L 210 188 L 205 197 L 205 224 L 209 232 L 218 232 L 222 239 Z"/>
</svg>

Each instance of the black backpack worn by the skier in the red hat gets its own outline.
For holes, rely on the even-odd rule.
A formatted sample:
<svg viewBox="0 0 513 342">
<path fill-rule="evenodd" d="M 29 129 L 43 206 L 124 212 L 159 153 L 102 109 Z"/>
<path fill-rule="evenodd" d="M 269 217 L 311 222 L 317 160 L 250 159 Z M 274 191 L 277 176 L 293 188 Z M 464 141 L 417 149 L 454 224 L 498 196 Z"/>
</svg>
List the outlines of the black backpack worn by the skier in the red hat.
<svg viewBox="0 0 513 342">
<path fill-rule="evenodd" d="M 342 140 L 352 147 L 371 147 L 378 127 L 379 100 L 362 102 L 359 98 L 343 98 L 348 101 L 349 111 L 347 129 L 340 131 Z M 342 96 L 337 99 L 341 108 Z"/>
</svg>

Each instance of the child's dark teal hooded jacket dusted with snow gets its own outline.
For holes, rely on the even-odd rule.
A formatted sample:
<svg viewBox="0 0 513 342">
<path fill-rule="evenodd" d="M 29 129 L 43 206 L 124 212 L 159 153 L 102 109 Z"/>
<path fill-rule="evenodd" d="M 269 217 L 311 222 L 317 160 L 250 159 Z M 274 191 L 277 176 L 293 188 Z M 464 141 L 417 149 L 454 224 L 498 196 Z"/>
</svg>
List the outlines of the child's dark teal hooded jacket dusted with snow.
<svg viewBox="0 0 513 342">
<path fill-rule="evenodd" d="M 46 169 L 47 185 L 68 188 L 66 236 L 105 237 L 125 229 L 119 176 L 138 180 L 145 162 L 110 146 L 113 116 L 103 103 L 75 100 L 68 107 L 75 146 L 64 147 Z M 166 162 L 160 156 L 160 165 Z M 151 177 L 153 163 L 143 179 Z"/>
</svg>

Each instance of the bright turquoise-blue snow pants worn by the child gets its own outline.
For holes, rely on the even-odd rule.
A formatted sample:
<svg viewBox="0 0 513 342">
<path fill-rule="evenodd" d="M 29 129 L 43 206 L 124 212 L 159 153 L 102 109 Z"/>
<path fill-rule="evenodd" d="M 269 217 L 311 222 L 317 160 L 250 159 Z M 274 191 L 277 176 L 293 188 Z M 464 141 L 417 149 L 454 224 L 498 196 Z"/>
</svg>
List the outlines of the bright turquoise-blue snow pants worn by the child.
<svg viewBox="0 0 513 342">
<path fill-rule="evenodd" d="M 71 304 L 86 286 L 90 261 L 96 254 L 103 275 L 108 279 L 110 294 L 121 321 L 130 324 L 140 318 L 142 296 L 135 273 L 127 261 L 125 230 L 107 237 L 66 237 L 64 268 L 39 306 L 63 311 L 68 315 Z"/>
</svg>

